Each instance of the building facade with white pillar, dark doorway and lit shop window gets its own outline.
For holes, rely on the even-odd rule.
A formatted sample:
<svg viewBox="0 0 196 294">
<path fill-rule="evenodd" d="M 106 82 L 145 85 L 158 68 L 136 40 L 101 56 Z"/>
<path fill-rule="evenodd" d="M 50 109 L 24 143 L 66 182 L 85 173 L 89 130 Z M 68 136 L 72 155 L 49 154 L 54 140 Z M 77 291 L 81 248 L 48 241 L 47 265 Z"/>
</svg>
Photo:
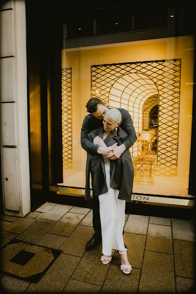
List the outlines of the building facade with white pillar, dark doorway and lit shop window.
<svg viewBox="0 0 196 294">
<path fill-rule="evenodd" d="M 128 204 L 193 207 L 196 26 L 188 5 L 5 1 L 0 15 L 5 214 L 25 216 L 36 201 L 84 204 L 80 130 L 91 97 L 131 114 L 138 139 Z"/>
</svg>

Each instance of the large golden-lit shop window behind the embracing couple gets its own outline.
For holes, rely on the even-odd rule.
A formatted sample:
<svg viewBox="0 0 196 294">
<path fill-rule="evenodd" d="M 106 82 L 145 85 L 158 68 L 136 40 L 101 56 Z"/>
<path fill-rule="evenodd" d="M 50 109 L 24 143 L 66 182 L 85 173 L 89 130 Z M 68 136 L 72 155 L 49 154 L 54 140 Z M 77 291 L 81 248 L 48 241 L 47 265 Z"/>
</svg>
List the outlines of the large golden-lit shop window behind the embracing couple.
<svg viewBox="0 0 196 294">
<path fill-rule="evenodd" d="M 171 24 L 166 15 L 162 11 L 162 17 L 156 17 L 158 25 Z M 111 20 L 115 18 L 108 18 L 108 32 L 113 31 Z M 101 25 L 99 32 L 103 33 Z M 87 101 L 98 97 L 132 117 L 138 135 L 130 147 L 133 193 L 188 195 L 194 42 L 194 36 L 185 35 L 62 49 L 64 181 L 60 186 L 83 193 L 86 151 L 80 146 L 80 131 L 88 114 Z"/>
</svg>

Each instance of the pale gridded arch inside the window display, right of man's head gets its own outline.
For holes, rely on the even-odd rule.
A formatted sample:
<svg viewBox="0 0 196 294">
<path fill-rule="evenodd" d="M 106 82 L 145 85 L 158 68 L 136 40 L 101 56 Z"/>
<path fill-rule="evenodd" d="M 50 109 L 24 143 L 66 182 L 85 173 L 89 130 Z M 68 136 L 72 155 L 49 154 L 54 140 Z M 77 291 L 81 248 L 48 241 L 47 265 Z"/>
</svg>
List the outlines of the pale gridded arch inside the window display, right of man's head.
<svg viewBox="0 0 196 294">
<path fill-rule="evenodd" d="M 150 111 L 159 105 L 157 86 L 149 76 L 140 72 L 120 76 L 113 83 L 108 98 L 109 107 L 122 107 L 128 110 L 136 133 L 149 130 Z M 154 129 L 158 136 L 158 123 L 154 125 Z M 132 157 L 140 154 L 136 143 L 131 151 Z"/>
</svg>

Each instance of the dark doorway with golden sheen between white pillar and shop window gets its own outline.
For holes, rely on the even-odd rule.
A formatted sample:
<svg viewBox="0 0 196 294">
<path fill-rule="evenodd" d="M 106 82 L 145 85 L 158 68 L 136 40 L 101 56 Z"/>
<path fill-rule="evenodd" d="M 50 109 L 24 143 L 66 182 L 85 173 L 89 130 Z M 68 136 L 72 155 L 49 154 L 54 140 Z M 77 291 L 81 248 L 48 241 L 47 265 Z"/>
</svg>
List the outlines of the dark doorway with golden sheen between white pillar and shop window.
<svg viewBox="0 0 196 294">
<path fill-rule="evenodd" d="M 62 182 L 59 5 L 25 1 L 31 210 Z M 57 6 L 58 8 L 55 8 Z"/>
</svg>

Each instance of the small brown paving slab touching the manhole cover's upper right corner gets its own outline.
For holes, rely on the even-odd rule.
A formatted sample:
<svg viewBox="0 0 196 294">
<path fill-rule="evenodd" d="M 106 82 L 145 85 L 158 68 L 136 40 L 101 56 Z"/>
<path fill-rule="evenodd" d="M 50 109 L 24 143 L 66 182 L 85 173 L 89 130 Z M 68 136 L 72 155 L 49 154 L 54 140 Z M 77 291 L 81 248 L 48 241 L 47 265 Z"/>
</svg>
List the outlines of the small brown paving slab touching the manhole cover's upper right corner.
<svg viewBox="0 0 196 294">
<path fill-rule="evenodd" d="M 46 233 L 46 235 L 44 235 L 36 244 L 49 248 L 59 249 L 66 239 L 67 237 L 65 236 L 58 236 Z"/>
</svg>

